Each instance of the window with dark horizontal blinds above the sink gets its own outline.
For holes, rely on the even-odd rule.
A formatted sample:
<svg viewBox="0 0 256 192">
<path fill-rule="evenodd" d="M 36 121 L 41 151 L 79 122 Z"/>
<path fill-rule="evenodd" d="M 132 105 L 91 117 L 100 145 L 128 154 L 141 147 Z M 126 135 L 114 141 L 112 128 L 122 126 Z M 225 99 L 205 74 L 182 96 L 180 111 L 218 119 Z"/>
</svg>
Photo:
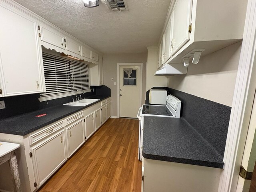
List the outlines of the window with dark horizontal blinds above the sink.
<svg viewBox="0 0 256 192">
<path fill-rule="evenodd" d="M 86 63 L 43 53 L 46 92 L 40 101 L 74 95 L 76 90 L 90 92 L 89 66 Z"/>
</svg>

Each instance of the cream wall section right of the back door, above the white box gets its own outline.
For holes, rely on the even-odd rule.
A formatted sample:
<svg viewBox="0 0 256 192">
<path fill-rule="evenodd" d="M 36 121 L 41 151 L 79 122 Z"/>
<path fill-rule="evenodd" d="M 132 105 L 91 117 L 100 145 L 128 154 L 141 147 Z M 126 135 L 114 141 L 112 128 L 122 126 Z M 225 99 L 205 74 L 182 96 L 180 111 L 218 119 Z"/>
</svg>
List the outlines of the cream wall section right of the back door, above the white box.
<svg viewBox="0 0 256 192">
<path fill-rule="evenodd" d="M 158 70 L 158 47 L 148 47 L 148 63 L 146 72 L 146 91 L 152 87 L 166 87 L 167 76 L 155 76 Z"/>
</svg>

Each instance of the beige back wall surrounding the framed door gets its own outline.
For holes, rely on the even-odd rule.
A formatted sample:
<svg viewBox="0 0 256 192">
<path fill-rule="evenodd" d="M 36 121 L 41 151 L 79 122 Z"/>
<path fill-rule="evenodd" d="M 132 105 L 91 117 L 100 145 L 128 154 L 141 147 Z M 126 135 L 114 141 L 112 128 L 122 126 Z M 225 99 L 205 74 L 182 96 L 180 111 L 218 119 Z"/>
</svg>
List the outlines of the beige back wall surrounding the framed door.
<svg viewBox="0 0 256 192">
<path fill-rule="evenodd" d="M 142 104 L 145 103 L 145 85 L 146 85 L 146 62 L 147 53 L 134 54 L 105 54 L 103 55 L 103 82 L 111 89 L 111 115 L 117 115 L 117 64 L 118 63 L 143 63 L 142 74 Z M 111 78 L 114 81 L 111 81 Z"/>
</svg>

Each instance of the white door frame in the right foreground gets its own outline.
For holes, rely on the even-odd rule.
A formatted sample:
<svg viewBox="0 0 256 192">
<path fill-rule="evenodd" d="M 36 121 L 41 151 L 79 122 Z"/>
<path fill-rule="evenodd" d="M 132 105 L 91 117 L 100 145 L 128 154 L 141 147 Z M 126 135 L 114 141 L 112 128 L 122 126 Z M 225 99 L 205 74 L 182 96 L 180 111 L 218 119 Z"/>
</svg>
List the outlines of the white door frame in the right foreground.
<svg viewBox="0 0 256 192">
<path fill-rule="evenodd" d="M 238 178 L 256 88 L 256 0 L 248 0 L 219 192 L 240 192 Z"/>
</svg>

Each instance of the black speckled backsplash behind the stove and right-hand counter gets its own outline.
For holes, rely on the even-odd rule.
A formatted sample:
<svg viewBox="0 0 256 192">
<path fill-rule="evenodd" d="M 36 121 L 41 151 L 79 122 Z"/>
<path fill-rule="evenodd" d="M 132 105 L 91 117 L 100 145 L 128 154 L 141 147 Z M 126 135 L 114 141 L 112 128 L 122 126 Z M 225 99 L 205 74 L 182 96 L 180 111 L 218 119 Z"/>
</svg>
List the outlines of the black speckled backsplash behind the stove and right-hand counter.
<svg viewBox="0 0 256 192">
<path fill-rule="evenodd" d="M 200 134 L 212 147 L 224 156 L 231 107 L 204 98 L 187 94 L 168 87 L 168 94 L 181 100 L 181 116 Z M 146 93 L 146 104 L 149 91 Z M 218 138 L 218 142 L 216 142 Z"/>
</svg>

